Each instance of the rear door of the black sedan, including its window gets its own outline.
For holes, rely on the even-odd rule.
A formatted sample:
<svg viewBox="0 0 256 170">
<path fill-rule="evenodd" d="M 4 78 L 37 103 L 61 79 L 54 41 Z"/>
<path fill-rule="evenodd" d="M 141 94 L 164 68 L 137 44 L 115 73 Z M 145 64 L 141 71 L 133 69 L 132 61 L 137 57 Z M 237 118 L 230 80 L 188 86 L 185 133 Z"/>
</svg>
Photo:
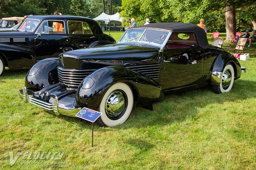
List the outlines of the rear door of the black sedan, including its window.
<svg viewBox="0 0 256 170">
<path fill-rule="evenodd" d="M 70 48 L 73 50 L 87 48 L 96 40 L 90 26 L 84 21 L 68 20 L 67 27 L 70 39 Z"/>
</svg>

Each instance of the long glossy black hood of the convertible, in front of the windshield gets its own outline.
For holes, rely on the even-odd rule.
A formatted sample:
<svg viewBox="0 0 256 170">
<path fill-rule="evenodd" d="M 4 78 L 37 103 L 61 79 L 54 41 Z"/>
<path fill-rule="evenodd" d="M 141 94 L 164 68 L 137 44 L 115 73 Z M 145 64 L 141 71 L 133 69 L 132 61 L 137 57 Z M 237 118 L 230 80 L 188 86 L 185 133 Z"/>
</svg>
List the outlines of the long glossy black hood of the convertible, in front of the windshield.
<svg viewBox="0 0 256 170">
<path fill-rule="evenodd" d="M 60 66 L 70 69 L 102 68 L 109 65 L 137 65 L 156 60 L 159 47 L 112 44 L 69 51 L 59 56 Z"/>
</svg>

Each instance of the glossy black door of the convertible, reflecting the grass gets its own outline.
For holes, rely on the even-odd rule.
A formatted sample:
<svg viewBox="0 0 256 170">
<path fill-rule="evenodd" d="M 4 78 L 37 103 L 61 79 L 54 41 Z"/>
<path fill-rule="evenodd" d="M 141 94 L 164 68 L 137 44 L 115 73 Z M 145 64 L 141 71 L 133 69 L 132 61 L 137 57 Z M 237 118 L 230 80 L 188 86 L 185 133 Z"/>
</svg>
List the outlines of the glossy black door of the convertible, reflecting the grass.
<svg viewBox="0 0 256 170">
<path fill-rule="evenodd" d="M 200 84 L 204 71 L 204 49 L 193 43 L 170 42 L 167 45 L 171 47 L 168 49 L 166 46 L 163 51 L 159 80 L 162 88 L 168 91 Z"/>
</svg>

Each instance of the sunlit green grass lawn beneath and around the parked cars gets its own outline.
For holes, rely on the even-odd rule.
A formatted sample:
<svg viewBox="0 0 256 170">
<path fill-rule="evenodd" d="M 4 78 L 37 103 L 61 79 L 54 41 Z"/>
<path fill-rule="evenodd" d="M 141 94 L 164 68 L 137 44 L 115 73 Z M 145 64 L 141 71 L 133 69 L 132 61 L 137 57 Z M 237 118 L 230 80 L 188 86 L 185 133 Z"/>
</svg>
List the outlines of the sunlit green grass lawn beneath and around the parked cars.
<svg viewBox="0 0 256 170">
<path fill-rule="evenodd" d="M 115 40 L 122 34 L 111 32 Z M 28 69 L 7 69 L 0 77 L 1 170 L 255 170 L 256 47 L 245 52 L 250 60 L 239 62 L 247 73 L 229 93 L 206 87 L 166 95 L 154 111 L 134 108 L 122 125 L 96 125 L 94 147 L 90 123 L 24 104 L 18 90 Z M 20 156 L 11 167 L 10 153 L 26 151 L 64 154 L 61 160 Z"/>
</svg>

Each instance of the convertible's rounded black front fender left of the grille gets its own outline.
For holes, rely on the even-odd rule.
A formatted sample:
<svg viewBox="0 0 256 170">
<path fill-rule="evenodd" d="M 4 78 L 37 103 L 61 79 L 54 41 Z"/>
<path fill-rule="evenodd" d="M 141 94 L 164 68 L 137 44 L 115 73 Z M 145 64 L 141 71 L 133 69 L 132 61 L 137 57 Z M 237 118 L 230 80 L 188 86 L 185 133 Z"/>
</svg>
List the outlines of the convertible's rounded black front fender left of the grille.
<svg viewBox="0 0 256 170">
<path fill-rule="evenodd" d="M 48 85 L 58 82 L 57 58 L 43 59 L 30 68 L 26 75 L 25 86 L 33 91 L 40 91 Z"/>
</svg>

